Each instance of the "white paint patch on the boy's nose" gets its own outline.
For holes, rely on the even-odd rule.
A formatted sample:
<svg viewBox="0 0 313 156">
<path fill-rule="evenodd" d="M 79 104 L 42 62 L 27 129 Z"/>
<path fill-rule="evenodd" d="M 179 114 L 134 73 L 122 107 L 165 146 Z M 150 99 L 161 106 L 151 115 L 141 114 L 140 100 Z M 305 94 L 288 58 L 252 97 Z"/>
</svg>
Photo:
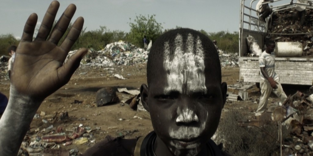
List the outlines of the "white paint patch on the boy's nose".
<svg viewBox="0 0 313 156">
<path fill-rule="evenodd" d="M 177 108 L 177 119 L 176 122 L 184 122 L 184 123 L 189 123 L 192 121 L 196 121 L 198 122 L 198 116 L 196 115 L 196 113 L 194 113 L 192 110 L 190 109 L 186 109 L 186 110 L 181 110 L 179 107 Z"/>
</svg>

